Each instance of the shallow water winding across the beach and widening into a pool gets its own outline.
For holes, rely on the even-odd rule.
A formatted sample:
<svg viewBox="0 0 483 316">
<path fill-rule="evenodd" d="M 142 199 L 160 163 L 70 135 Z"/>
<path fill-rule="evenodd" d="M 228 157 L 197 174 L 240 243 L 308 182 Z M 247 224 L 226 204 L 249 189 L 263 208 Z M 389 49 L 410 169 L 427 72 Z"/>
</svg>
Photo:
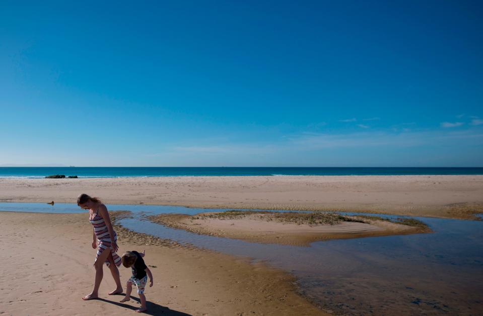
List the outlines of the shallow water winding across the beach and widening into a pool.
<svg viewBox="0 0 483 316">
<path fill-rule="evenodd" d="M 6 205 L 8 204 L 8 205 Z M 315 242 L 310 247 L 202 236 L 143 220 L 141 214 L 197 214 L 210 209 L 107 205 L 131 210 L 133 231 L 265 261 L 298 278 L 315 303 L 343 314 L 483 314 L 483 222 L 417 218 L 434 233 Z M 0 203 L 0 210 L 82 213 L 74 204 Z M 213 211 L 217 209 L 211 209 Z M 217 210 L 220 211 L 220 210 Z"/>
</svg>

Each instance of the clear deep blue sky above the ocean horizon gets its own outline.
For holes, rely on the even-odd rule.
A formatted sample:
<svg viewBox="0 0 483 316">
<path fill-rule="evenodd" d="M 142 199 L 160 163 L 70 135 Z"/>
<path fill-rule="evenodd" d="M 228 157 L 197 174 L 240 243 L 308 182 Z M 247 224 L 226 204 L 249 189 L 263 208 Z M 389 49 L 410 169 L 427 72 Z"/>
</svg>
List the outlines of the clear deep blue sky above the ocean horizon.
<svg viewBox="0 0 483 316">
<path fill-rule="evenodd" d="M 0 3 L 0 165 L 483 166 L 483 5 Z"/>
</svg>

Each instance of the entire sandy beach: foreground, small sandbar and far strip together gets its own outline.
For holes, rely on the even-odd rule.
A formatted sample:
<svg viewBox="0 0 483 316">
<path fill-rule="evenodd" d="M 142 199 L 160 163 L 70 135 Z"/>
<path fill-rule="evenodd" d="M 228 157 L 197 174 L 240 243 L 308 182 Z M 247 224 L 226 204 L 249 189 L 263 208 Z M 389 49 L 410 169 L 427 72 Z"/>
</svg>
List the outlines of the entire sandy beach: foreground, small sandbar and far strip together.
<svg viewBox="0 0 483 316">
<path fill-rule="evenodd" d="M 82 192 L 99 196 L 106 203 L 348 210 L 467 220 L 483 210 L 483 176 L 0 179 L 0 201 L 3 202 L 53 200 L 74 203 Z M 113 217 L 122 214 L 113 213 Z M 179 219 L 182 220 L 178 218 L 177 221 Z M 307 229 L 313 227 L 272 227 L 273 223 L 264 222 L 262 225 L 253 219 L 244 221 L 212 221 L 194 229 L 178 228 L 262 243 L 277 243 L 278 240 L 278 243 L 286 245 L 306 245 L 320 240 L 320 236 L 315 236 L 320 234 L 346 238 L 344 235 L 362 237 L 415 233 L 401 231 L 399 226 L 395 229 L 390 223 L 385 225 L 392 227 L 385 228 L 374 223 L 343 223 L 340 226 L 322 226 L 316 228 L 319 231 L 303 236 Z M 180 223 L 178 221 L 176 225 Z M 119 235 L 120 253 L 146 249 L 146 262 L 154 266 L 155 286 L 146 292 L 150 301 L 149 314 L 325 313 L 298 294 L 295 278 L 287 272 L 250 263 L 248 258 L 181 246 L 176 242 L 134 233 L 118 225 L 115 229 Z M 267 231 L 277 230 L 282 235 L 267 234 Z M 255 234 L 253 231 L 256 231 Z M 292 235 L 292 239 L 284 240 L 286 233 Z M 0 263 L 4 271 L 0 277 L 0 313 L 118 314 L 132 312 L 139 306 L 136 300 L 119 303 L 122 296 L 107 295 L 114 287 L 108 269 L 105 269 L 100 288 L 101 299 L 81 300 L 90 292 L 94 279 L 92 262 L 95 251 L 90 246 L 92 228 L 87 214 L 0 212 L 0 237 L 1 250 L 8 254 L 8 260 Z M 121 280 L 125 282 L 130 272 L 124 268 L 120 271 Z M 12 275 L 16 275 L 15 284 L 12 284 Z M 137 297 L 135 293 L 133 297 Z"/>
</svg>

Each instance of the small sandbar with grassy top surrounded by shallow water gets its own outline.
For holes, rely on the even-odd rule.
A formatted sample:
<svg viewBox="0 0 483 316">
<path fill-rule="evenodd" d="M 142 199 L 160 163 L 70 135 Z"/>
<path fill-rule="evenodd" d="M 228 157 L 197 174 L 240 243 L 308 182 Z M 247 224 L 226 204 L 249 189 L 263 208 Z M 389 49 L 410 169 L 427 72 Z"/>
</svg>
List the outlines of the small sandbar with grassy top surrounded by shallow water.
<svg viewBox="0 0 483 316">
<path fill-rule="evenodd" d="M 271 214 L 250 214 L 234 218 L 210 218 L 209 215 L 210 213 L 204 216 L 161 214 L 151 216 L 149 219 L 155 223 L 200 235 L 292 246 L 308 246 L 312 242 L 329 239 L 431 232 L 427 227 L 413 227 L 380 220 L 365 220 L 366 223 L 340 222 L 334 225 L 309 225 L 276 221 L 272 219 Z M 357 217 L 350 218 L 362 220 Z"/>
</svg>

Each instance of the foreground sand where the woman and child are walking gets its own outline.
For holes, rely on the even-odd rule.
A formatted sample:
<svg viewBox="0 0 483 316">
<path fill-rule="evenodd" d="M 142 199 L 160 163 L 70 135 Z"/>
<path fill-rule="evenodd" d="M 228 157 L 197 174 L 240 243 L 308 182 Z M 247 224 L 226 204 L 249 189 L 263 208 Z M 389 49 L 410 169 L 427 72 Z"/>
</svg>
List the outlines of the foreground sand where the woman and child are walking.
<svg viewBox="0 0 483 316">
<path fill-rule="evenodd" d="M 114 214 L 113 214 L 114 215 Z M 146 249 L 154 286 L 147 287 L 152 315 L 320 315 L 295 292 L 294 278 L 261 264 L 136 234 L 116 226 L 119 253 Z M 86 214 L 0 212 L 0 314 L 118 315 L 139 307 L 107 295 L 109 269 L 99 300 L 83 301 L 94 282 L 92 227 Z M 148 245 L 146 245 L 148 244 Z M 130 269 L 119 268 L 125 284 Z"/>
</svg>

